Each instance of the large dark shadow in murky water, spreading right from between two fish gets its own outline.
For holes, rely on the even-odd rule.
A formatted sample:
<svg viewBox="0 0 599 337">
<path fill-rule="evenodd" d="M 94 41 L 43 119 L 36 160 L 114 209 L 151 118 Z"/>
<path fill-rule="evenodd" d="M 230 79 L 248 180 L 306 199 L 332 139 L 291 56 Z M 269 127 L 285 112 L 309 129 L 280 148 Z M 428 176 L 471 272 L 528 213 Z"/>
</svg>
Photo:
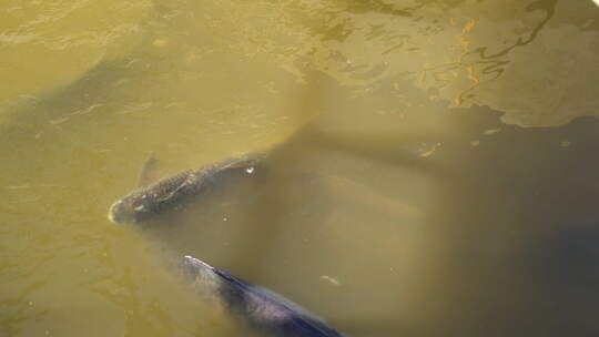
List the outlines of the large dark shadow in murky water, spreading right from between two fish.
<svg viewBox="0 0 599 337">
<path fill-rule="evenodd" d="M 454 112 L 459 134 L 428 153 L 317 120 L 265 171 L 144 226 L 352 336 L 595 335 L 599 122 L 499 118 Z"/>
</svg>

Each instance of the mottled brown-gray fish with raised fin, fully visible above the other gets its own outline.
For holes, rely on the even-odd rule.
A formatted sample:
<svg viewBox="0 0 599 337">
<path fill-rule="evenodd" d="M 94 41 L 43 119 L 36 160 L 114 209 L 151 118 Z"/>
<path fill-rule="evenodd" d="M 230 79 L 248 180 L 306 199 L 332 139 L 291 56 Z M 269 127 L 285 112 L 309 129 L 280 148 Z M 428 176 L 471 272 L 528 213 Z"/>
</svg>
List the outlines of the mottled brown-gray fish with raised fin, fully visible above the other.
<svg viewBox="0 0 599 337">
<path fill-rule="evenodd" d="M 263 157 L 254 155 L 226 160 L 165 177 L 118 200 L 110 206 L 108 217 L 113 223 L 135 223 L 151 219 L 161 213 L 209 194 L 234 176 L 253 174 Z M 155 160 L 151 157 L 144 168 L 154 165 Z M 140 182 L 144 182 L 143 173 Z"/>
</svg>

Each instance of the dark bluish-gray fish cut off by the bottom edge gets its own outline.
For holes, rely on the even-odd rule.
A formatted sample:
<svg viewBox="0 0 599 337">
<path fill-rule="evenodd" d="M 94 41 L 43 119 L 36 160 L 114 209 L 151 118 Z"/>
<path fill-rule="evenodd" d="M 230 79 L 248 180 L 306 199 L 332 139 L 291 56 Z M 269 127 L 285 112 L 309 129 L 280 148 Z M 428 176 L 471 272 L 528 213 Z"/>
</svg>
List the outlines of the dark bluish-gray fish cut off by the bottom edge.
<svg viewBox="0 0 599 337">
<path fill-rule="evenodd" d="M 184 272 L 194 289 L 216 298 L 235 317 L 261 334 L 285 337 L 343 337 L 306 309 L 270 292 L 250 285 L 192 256 L 184 257 Z"/>
</svg>

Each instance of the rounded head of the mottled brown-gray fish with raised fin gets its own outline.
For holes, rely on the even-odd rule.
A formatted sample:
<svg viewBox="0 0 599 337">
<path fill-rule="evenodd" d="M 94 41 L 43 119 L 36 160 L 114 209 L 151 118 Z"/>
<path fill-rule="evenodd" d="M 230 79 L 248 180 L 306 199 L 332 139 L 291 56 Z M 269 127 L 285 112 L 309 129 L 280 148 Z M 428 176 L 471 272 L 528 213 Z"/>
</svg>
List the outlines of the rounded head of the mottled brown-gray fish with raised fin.
<svg viewBox="0 0 599 337">
<path fill-rule="evenodd" d="M 138 223 L 149 217 L 152 212 L 150 198 L 144 193 L 134 193 L 112 204 L 108 217 L 116 224 Z"/>
</svg>

